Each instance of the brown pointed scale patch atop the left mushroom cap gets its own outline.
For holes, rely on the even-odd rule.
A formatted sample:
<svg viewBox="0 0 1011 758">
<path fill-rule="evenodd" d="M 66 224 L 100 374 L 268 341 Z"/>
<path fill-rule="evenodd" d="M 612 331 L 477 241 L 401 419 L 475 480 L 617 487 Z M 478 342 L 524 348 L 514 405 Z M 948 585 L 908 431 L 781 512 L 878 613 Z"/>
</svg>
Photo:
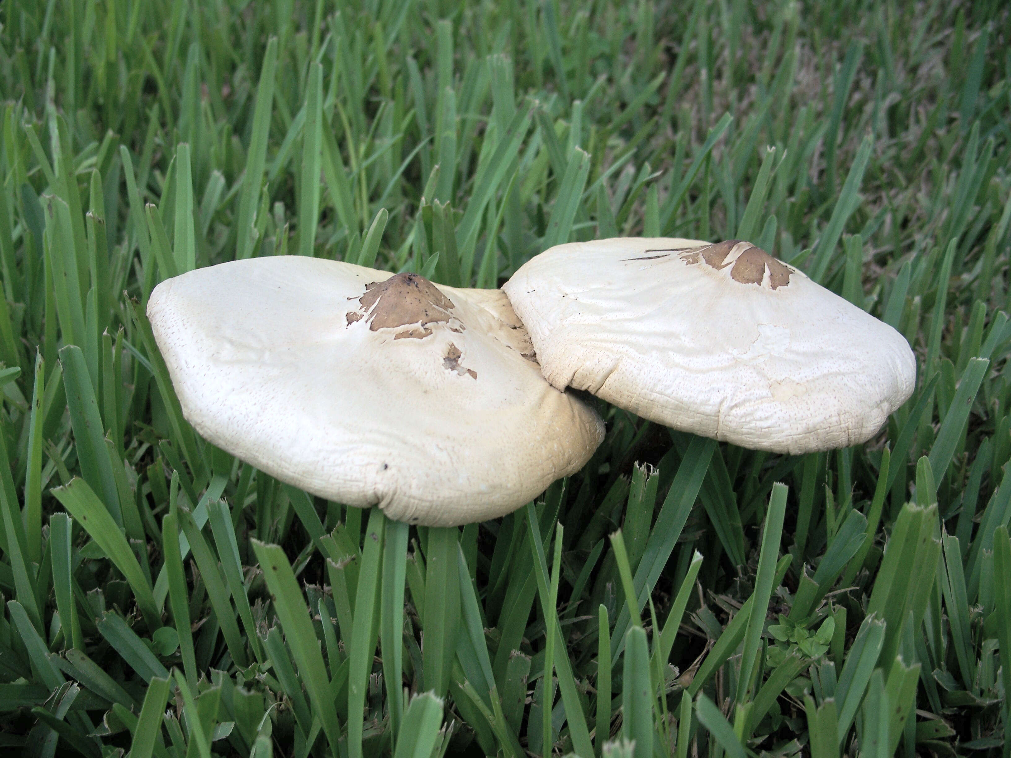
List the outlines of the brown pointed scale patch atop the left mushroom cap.
<svg viewBox="0 0 1011 758">
<path fill-rule="evenodd" d="M 345 315 L 348 325 L 362 318 L 369 322 L 369 329 L 398 328 L 410 324 L 410 328 L 394 335 L 394 340 L 413 338 L 423 340 L 432 334 L 430 323 L 449 323 L 454 318 L 450 313 L 453 301 L 439 291 L 432 282 L 418 274 L 397 274 L 384 282 L 365 285 L 365 293 L 357 299 L 361 308 Z M 461 331 L 450 326 L 453 331 Z"/>
</svg>

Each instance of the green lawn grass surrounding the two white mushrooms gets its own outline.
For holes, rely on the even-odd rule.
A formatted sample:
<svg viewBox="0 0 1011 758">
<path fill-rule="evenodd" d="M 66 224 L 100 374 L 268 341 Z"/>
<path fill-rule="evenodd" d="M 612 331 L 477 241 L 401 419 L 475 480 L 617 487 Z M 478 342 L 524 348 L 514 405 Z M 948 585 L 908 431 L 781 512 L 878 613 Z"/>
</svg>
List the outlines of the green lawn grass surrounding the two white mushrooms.
<svg viewBox="0 0 1011 758">
<path fill-rule="evenodd" d="M 1011 755 L 1006 3 L 0 21 L 0 750 Z M 615 234 L 760 244 L 917 391 L 803 457 L 601 403 L 535 503 L 408 529 L 201 441 L 144 315 L 234 258 L 489 287 Z"/>
</svg>

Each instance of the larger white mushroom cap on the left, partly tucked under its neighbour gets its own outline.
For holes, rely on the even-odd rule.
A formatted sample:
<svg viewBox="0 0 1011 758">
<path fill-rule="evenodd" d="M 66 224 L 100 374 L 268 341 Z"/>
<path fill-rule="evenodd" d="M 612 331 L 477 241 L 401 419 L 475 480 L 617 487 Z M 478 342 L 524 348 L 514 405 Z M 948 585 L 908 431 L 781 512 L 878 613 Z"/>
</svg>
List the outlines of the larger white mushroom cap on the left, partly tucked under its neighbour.
<svg viewBox="0 0 1011 758">
<path fill-rule="evenodd" d="M 206 440 L 398 520 L 508 513 L 579 470 L 604 436 L 588 405 L 543 379 L 500 291 L 259 258 L 162 282 L 148 315 Z"/>
</svg>

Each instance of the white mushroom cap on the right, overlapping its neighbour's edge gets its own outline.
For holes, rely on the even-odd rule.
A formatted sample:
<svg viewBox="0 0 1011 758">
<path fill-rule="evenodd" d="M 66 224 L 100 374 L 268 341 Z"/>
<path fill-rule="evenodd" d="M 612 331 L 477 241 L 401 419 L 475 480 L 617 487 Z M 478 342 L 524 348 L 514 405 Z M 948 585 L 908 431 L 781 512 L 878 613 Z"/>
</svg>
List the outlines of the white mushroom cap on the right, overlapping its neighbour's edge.
<svg viewBox="0 0 1011 758">
<path fill-rule="evenodd" d="M 555 387 L 753 450 L 865 442 L 916 382 L 902 335 L 750 243 L 559 245 L 503 289 Z"/>
</svg>

